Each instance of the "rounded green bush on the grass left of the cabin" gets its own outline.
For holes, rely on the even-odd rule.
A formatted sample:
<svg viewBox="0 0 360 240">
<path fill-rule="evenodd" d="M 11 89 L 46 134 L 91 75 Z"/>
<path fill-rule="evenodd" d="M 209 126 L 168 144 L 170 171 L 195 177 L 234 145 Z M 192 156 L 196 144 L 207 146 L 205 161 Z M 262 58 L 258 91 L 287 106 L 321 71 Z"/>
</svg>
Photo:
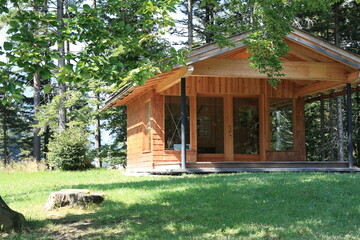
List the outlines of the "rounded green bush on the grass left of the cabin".
<svg viewBox="0 0 360 240">
<path fill-rule="evenodd" d="M 55 135 L 49 143 L 48 160 L 51 167 L 62 170 L 90 168 L 87 158 L 88 134 L 80 128 L 69 128 Z"/>
</svg>

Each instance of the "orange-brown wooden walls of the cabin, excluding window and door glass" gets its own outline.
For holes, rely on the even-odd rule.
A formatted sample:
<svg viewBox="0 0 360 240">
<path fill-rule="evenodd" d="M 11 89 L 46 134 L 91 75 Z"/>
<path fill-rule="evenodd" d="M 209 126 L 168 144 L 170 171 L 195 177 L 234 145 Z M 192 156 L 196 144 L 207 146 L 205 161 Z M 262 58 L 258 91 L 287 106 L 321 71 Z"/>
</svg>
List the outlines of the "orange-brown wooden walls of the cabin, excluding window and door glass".
<svg viewBox="0 0 360 240">
<path fill-rule="evenodd" d="M 187 95 L 190 96 L 190 144 L 187 161 L 305 161 L 305 127 L 304 100 L 294 98 L 295 90 L 300 87 L 292 81 L 282 80 L 276 89 L 265 79 L 242 79 L 222 77 L 187 78 Z M 127 104 L 128 111 L 128 168 L 161 168 L 162 166 L 180 167 L 180 151 L 164 151 L 164 95 L 180 95 L 180 85 L 177 84 L 164 92 L 156 93 L 151 89 L 146 94 Z M 223 96 L 225 112 L 232 112 L 232 96 L 258 97 L 260 120 L 259 154 L 211 154 L 198 155 L 196 129 L 196 96 Z M 269 98 L 293 98 L 294 111 L 294 151 L 270 151 Z M 151 151 L 143 152 L 142 141 L 145 128 L 145 102 L 152 102 L 152 143 Z M 227 109 L 228 108 L 228 109 Z M 224 119 L 225 124 L 232 123 L 232 114 Z M 227 115 L 226 115 L 227 116 Z M 227 133 L 229 134 L 229 133 Z M 229 140 L 230 139 L 230 140 Z M 225 139 L 225 146 L 231 147 L 230 137 Z"/>
</svg>

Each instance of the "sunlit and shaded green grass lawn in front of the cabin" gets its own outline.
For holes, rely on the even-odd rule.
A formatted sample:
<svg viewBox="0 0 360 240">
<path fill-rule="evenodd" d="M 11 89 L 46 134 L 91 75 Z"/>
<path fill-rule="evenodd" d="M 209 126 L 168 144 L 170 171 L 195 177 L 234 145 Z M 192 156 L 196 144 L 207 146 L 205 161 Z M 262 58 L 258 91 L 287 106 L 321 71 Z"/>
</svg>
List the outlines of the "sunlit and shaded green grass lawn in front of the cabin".
<svg viewBox="0 0 360 240">
<path fill-rule="evenodd" d="M 64 188 L 106 200 L 43 211 Z M 360 239 L 360 174 L 0 172 L 0 194 L 31 230 L 4 239 Z"/>
</svg>

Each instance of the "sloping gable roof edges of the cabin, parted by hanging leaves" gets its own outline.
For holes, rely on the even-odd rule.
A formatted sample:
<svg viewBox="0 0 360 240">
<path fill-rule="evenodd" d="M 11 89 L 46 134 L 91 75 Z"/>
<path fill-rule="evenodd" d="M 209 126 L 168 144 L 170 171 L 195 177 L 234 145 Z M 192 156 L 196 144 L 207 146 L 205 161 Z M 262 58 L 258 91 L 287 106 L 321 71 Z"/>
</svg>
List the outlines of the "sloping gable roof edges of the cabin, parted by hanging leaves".
<svg viewBox="0 0 360 240">
<path fill-rule="evenodd" d="M 229 41 L 233 43 L 232 47 L 220 48 L 216 43 L 209 43 L 196 47 L 187 55 L 187 66 L 191 64 L 214 58 L 221 57 L 222 55 L 229 55 L 232 52 L 235 52 L 239 49 L 245 48 L 246 45 L 243 43 L 248 37 L 248 33 L 240 33 L 228 38 Z M 321 61 L 331 61 L 335 63 L 340 63 L 345 65 L 352 71 L 360 70 L 360 56 L 349 51 L 346 51 L 342 48 L 337 47 L 336 45 L 327 42 L 323 39 L 320 39 L 312 34 L 309 34 L 300 29 L 293 28 L 293 32 L 284 36 L 285 41 L 289 44 L 297 44 L 301 47 L 304 47 L 307 51 L 313 51 L 321 57 Z M 179 79 L 187 74 L 188 69 L 186 66 L 176 66 L 171 72 L 163 72 L 158 74 L 157 77 L 148 79 L 144 85 L 136 86 L 133 83 L 125 84 L 121 89 L 116 93 L 110 96 L 110 98 L 105 102 L 103 110 L 106 110 L 113 106 L 123 105 L 126 102 L 131 101 L 139 94 L 155 88 L 164 79 L 171 81 L 174 79 Z M 356 78 L 360 78 L 359 73 L 355 73 Z M 266 78 L 264 76 L 264 78 Z"/>
</svg>

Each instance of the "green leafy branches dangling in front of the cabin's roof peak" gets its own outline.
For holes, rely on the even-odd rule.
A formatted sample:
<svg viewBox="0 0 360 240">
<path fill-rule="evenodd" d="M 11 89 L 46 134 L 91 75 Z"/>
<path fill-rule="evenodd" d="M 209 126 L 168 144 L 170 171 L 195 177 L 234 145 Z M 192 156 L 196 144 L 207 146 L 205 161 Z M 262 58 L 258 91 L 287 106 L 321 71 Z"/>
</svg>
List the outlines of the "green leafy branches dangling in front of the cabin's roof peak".
<svg viewBox="0 0 360 240">
<path fill-rule="evenodd" d="M 182 1 L 184 13 L 187 13 L 184 10 L 187 2 Z M 282 36 L 292 31 L 291 26 L 300 13 L 329 13 L 335 2 L 337 0 L 193 0 L 195 37 L 225 47 L 232 45 L 227 37 L 248 32 L 244 43 L 249 45 L 250 66 L 265 74 L 276 87 L 279 78 L 284 76 L 280 58 L 289 50 Z"/>
</svg>

